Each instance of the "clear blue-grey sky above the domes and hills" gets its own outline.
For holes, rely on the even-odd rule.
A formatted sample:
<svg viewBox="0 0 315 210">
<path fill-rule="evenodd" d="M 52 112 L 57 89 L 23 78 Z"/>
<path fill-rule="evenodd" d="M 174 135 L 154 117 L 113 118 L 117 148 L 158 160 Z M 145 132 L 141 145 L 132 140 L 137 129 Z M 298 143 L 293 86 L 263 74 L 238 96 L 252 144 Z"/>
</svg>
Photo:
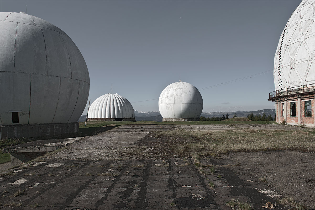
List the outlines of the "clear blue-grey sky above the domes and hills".
<svg viewBox="0 0 315 210">
<path fill-rule="evenodd" d="M 181 79 L 200 90 L 203 112 L 253 111 L 274 108 L 267 100 L 274 54 L 300 3 L 38 0 L 27 1 L 27 14 L 77 45 L 89 69 L 91 103 L 112 86 L 135 110 L 158 111 L 160 93 Z M 26 1 L 1 0 L 0 11 L 25 12 Z"/>
</svg>

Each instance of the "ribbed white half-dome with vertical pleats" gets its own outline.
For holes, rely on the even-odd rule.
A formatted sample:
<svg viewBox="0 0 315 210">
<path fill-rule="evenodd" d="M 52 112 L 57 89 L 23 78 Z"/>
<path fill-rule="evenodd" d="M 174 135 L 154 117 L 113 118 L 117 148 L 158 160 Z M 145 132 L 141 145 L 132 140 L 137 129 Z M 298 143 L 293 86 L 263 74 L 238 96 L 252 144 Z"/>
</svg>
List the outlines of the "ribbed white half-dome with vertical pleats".
<svg viewBox="0 0 315 210">
<path fill-rule="evenodd" d="M 134 118 L 135 111 L 124 97 L 108 93 L 98 97 L 90 106 L 88 118 Z"/>
</svg>

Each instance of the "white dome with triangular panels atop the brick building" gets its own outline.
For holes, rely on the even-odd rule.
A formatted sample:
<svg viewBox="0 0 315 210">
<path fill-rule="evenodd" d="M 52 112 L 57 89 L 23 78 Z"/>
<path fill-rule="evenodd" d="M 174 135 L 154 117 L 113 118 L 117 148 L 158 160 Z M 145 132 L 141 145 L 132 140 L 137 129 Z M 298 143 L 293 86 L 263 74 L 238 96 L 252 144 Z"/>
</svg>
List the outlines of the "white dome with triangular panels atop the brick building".
<svg viewBox="0 0 315 210">
<path fill-rule="evenodd" d="M 275 89 L 315 83 L 315 1 L 303 0 L 280 36 L 274 59 Z"/>
</svg>

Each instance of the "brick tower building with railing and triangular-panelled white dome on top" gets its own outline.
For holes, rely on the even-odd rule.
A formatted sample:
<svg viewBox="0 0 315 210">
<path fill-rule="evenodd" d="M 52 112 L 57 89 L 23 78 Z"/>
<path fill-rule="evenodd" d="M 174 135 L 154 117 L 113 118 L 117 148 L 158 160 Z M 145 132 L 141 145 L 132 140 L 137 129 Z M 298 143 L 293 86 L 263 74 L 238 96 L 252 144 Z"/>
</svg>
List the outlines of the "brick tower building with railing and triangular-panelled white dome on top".
<svg viewBox="0 0 315 210">
<path fill-rule="evenodd" d="M 315 0 L 302 0 L 281 33 L 274 57 L 276 120 L 315 126 Z"/>
</svg>

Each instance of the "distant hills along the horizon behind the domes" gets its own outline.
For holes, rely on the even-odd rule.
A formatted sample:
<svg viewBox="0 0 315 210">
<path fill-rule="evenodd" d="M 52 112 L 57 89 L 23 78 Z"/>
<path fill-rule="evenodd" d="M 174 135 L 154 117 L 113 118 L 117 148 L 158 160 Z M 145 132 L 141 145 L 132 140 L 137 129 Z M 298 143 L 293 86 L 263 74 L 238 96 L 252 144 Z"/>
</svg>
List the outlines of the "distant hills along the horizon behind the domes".
<svg viewBox="0 0 315 210">
<path fill-rule="evenodd" d="M 236 113 L 236 115 L 238 117 L 247 117 L 247 115 L 249 115 L 250 113 L 253 113 L 254 115 L 256 114 L 260 114 L 262 115 L 263 113 L 266 113 L 266 115 L 268 116 L 269 114 L 271 114 L 271 116 L 273 118 L 276 117 L 276 110 L 275 109 L 261 109 L 261 110 L 256 110 L 256 111 L 237 111 L 237 112 L 203 112 L 201 113 L 201 116 L 204 117 L 221 117 L 222 114 L 224 114 L 224 116 L 226 114 L 229 114 L 229 117 L 232 118 L 234 113 Z M 82 115 L 80 117 L 81 122 L 84 122 L 86 118 L 86 115 Z M 141 112 L 141 111 L 137 111 L 135 110 L 135 119 L 136 121 L 156 121 L 156 122 L 162 122 L 162 116 L 159 112 Z M 78 120 L 79 122 L 79 120 Z"/>
</svg>

